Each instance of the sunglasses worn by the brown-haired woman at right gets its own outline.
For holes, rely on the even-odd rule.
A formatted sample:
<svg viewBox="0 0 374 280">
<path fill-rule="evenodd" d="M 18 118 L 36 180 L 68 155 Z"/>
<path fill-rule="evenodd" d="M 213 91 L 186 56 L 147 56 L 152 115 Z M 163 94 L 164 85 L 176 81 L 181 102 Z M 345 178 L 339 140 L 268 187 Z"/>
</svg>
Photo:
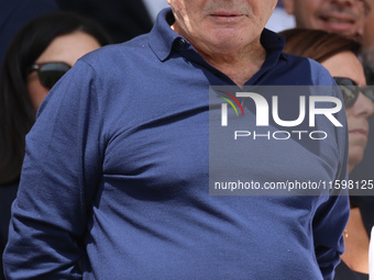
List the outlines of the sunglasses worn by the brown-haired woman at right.
<svg viewBox="0 0 374 280">
<path fill-rule="evenodd" d="M 333 77 L 341 93 L 343 94 L 345 108 L 351 108 L 354 105 L 359 98 L 359 93 L 362 92 L 374 103 L 374 92 L 369 87 L 359 87 L 354 80 L 343 77 Z"/>
</svg>

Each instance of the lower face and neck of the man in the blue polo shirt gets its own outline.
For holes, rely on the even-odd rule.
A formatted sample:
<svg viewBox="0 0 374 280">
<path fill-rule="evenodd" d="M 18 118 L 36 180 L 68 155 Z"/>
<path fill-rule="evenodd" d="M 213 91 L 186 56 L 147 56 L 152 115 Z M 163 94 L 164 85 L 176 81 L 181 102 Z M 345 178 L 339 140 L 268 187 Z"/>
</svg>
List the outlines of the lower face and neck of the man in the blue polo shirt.
<svg viewBox="0 0 374 280">
<path fill-rule="evenodd" d="M 262 66 L 261 33 L 276 0 L 167 0 L 172 29 L 213 67 L 243 86 Z"/>
</svg>

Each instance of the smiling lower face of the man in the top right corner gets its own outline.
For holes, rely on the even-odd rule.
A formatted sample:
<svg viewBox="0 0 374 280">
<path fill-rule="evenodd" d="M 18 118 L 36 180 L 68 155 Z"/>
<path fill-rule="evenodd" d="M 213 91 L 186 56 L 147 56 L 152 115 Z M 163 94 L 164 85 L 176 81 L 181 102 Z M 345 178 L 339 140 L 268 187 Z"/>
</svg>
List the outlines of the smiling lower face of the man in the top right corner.
<svg viewBox="0 0 374 280">
<path fill-rule="evenodd" d="M 370 0 L 283 0 L 296 26 L 324 30 L 362 40 Z"/>
</svg>

